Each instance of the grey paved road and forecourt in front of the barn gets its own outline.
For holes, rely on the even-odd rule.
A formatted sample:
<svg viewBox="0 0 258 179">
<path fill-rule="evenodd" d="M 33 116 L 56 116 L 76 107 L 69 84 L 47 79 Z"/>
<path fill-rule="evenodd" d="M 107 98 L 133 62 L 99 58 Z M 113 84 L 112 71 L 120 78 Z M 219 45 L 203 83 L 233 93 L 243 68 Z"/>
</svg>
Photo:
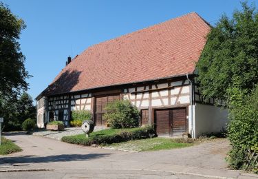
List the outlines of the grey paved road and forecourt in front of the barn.
<svg viewBox="0 0 258 179">
<path fill-rule="evenodd" d="M 133 153 L 62 143 L 14 134 L 7 138 L 23 151 L 0 158 L 0 178 L 248 178 L 226 169 L 228 140 L 183 149 Z M 34 169 L 47 171 L 34 171 Z M 35 177 L 36 176 L 36 177 Z M 251 177 L 253 178 L 253 177 Z"/>
</svg>

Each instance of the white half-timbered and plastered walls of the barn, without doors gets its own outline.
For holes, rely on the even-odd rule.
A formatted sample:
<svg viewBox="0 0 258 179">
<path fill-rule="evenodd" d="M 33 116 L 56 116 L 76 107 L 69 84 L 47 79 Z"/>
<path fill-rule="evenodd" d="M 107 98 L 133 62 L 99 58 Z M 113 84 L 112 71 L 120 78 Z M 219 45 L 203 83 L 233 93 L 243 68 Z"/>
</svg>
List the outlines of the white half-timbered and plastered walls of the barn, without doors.
<svg viewBox="0 0 258 179">
<path fill-rule="evenodd" d="M 188 80 L 157 83 L 155 85 L 142 85 L 122 89 L 122 99 L 128 99 L 136 105 L 139 110 L 149 110 L 149 124 L 153 110 L 162 108 L 186 107 L 186 120 L 188 131 L 191 136 L 197 138 L 202 134 L 211 134 L 225 129 L 228 122 L 226 109 L 212 105 L 215 100 L 209 100 L 209 105 L 201 104 L 202 96 L 194 87 L 194 103 L 191 105 L 191 84 Z M 47 101 L 47 104 L 45 104 Z M 65 96 L 52 96 L 37 101 L 37 125 L 44 127 L 50 121 L 50 112 L 54 112 L 54 120 L 63 120 L 65 125 L 69 123 L 69 115 L 74 110 L 90 110 L 93 112 L 94 98 L 91 93 Z M 42 103 L 44 103 L 42 105 Z M 60 112 L 63 112 L 63 119 L 58 119 Z M 44 116 L 45 115 L 45 116 Z M 62 115 L 61 115 L 62 116 Z M 45 118 L 45 120 L 44 120 Z"/>
</svg>

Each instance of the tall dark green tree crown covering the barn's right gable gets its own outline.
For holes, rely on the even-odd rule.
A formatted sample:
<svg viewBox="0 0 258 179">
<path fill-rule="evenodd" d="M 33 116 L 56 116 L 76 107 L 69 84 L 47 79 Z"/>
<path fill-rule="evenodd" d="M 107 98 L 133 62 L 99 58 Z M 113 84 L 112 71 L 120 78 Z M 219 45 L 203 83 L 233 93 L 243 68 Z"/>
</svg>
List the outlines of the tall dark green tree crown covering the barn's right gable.
<svg viewBox="0 0 258 179">
<path fill-rule="evenodd" d="M 228 100 L 231 88 L 250 92 L 258 82 L 258 14 L 242 3 L 233 18 L 223 15 L 212 28 L 197 63 L 204 98 Z"/>
</svg>

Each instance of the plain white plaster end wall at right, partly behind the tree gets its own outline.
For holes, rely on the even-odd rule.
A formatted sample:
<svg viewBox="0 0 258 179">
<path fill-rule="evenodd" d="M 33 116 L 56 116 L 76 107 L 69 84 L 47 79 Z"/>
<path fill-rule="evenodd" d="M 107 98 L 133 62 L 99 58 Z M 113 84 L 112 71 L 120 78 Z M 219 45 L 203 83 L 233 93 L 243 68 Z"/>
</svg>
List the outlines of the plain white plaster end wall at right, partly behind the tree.
<svg viewBox="0 0 258 179">
<path fill-rule="evenodd" d="M 226 129 L 226 123 L 228 123 L 228 110 L 212 105 L 195 104 L 193 123 L 195 138 L 202 134 L 222 131 L 223 128 Z"/>
</svg>

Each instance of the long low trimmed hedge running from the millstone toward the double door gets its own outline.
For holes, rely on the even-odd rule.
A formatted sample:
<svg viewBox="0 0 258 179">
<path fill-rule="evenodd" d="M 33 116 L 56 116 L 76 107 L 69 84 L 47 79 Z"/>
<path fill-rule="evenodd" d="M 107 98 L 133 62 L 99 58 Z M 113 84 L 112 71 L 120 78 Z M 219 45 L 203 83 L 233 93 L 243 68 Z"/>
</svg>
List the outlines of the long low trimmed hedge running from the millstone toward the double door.
<svg viewBox="0 0 258 179">
<path fill-rule="evenodd" d="M 122 143 L 128 140 L 137 140 L 143 138 L 152 138 L 156 136 L 153 126 L 140 127 L 134 131 L 122 131 L 118 134 L 92 136 L 89 138 L 75 138 L 74 136 L 64 136 L 61 140 L 65 143 L 78 145 L 101 145 Z"/>
</svg>

